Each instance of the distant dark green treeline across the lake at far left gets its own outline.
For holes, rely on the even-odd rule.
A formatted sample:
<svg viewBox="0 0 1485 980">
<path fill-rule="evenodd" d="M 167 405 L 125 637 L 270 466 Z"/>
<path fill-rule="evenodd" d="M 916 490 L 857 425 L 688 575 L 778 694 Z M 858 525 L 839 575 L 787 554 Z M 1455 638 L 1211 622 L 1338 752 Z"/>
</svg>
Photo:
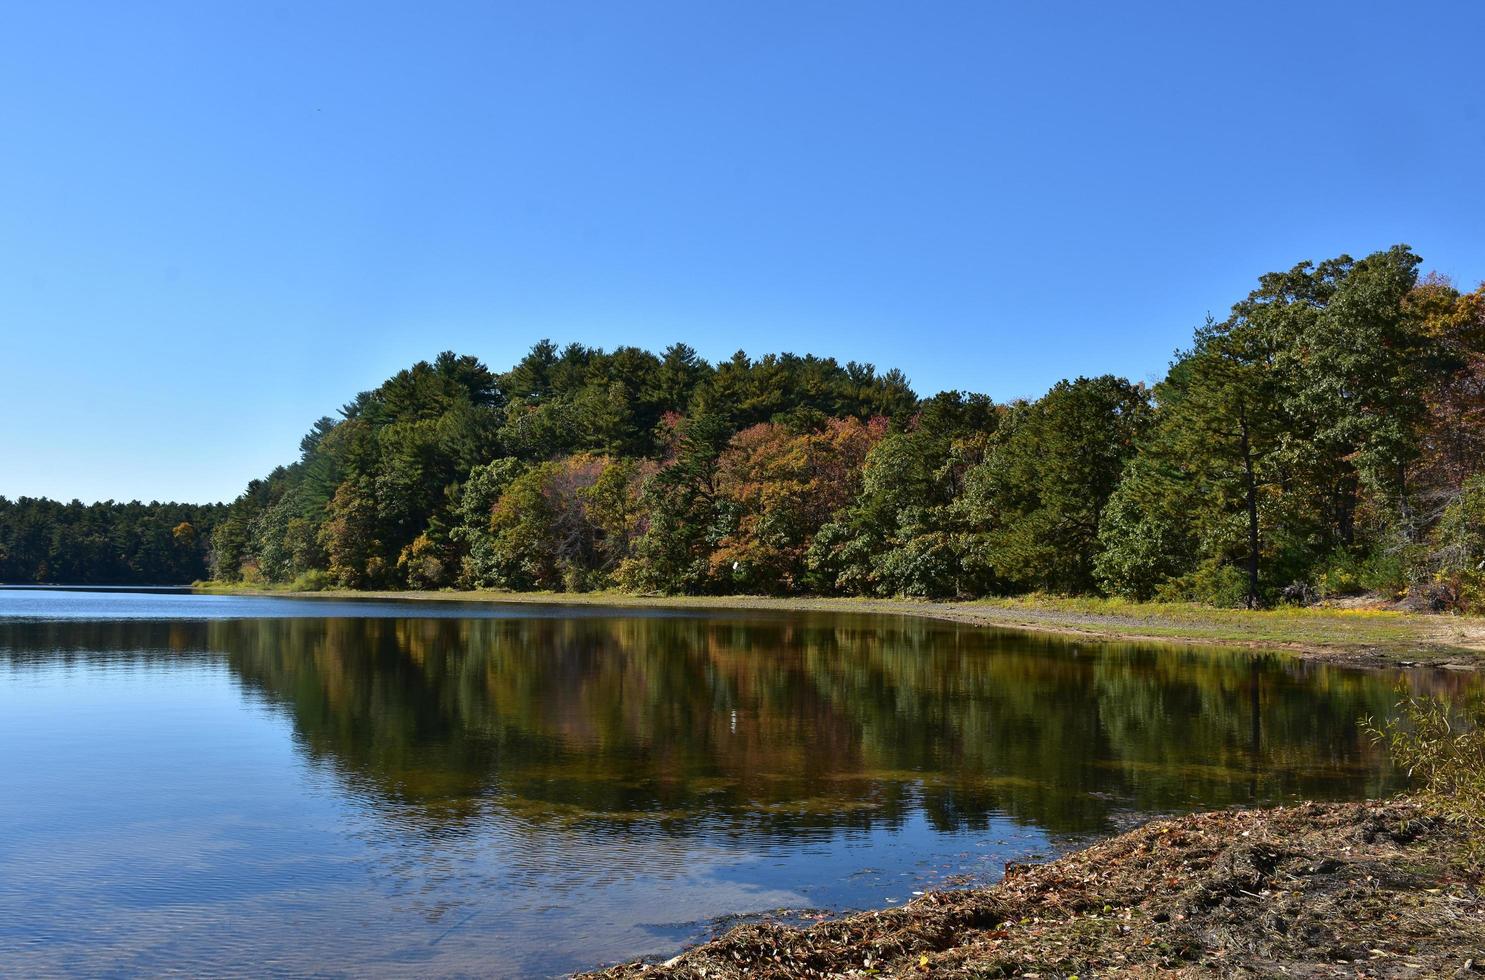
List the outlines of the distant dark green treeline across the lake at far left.
<svg viewBox="0 0 1485 980">
<path fill-rule="evenodd" d="M 205 578 L 224 505 L 0 497 L 0 582 L 174 585 Z"/>
</svg>

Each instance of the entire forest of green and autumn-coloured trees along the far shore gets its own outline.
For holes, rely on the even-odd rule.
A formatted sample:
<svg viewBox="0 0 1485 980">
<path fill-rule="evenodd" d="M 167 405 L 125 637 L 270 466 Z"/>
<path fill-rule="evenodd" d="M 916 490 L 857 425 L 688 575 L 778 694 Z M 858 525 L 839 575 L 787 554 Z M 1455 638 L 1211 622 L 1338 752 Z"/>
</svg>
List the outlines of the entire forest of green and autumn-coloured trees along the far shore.
<svg viewBox="0 0 1485 980">
<path fill-rule="evenodd" d="M 0 581 L 1482 609 L 1485 285 L 1420 264 L 1262 275 L 1154 386 L 1035 401 L 682 343 L 446 352 L 230 505 L 0 500 Z"/>
</svg>

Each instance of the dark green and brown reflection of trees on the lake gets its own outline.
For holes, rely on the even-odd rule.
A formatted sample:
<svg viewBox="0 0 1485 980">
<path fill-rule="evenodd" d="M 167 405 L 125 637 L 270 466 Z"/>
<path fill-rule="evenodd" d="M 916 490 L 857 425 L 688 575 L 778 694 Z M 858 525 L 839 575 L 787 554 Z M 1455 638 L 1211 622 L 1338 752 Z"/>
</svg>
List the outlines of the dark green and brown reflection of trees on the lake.
<svg viewBox="0 0 1485 980">
<path fill-rule="evenodd" d="M 303 748 L 457 827 L 480 800 L 647 821 L 1097 832 L 1390 788 L 1356 719 L 1394 676 L 898 619 L 224 619 L 0 627 L 12 665 L 224 656 Z M 1414 685 L 1466 683 L 1415 674 Z"/>
</svg>

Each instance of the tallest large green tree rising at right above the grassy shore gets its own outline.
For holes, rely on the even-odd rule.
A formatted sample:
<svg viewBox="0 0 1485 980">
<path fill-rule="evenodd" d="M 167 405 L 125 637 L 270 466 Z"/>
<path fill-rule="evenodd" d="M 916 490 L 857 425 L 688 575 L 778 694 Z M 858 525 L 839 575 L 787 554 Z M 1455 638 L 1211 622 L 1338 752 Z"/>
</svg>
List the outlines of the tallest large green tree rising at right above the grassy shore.
<svg viewBox="0 0 1485 980">
<path fill-rule="evenodd" d="M 1256 606 L 1311 588 L 1338 551 L 1383 546 L 1380 532 L 1363 540 L 1357 515 L 1374 500 L 1405 521 L 1411 434 L 1439 367 L 1406 309 L 1417 263 L 1402 245 L 1301 263 L 1197 331 L 1155 388 L 1142 460 L 1100 530 L 1108 588 L 1145 595 L 1164 587 L 1142 575 L 1166 576 L 1172 594 L 1213 598 L 1237 566 Z M 1152 560 L 1151 536 L 1179 542 L 1179 573 Z"/>
</svg>

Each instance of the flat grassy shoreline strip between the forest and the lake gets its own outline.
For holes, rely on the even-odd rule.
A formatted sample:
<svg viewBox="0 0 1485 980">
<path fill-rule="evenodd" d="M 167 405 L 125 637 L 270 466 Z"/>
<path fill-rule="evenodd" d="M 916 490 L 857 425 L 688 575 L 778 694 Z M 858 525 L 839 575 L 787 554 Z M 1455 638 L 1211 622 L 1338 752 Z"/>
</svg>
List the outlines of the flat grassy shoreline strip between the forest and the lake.
<svg viewBox="0 0 1485 980">
<path fill-rule="evenodd" d="M 906 615 L 980 627 L 1057 633 L 1097 640 L 1210 643 L 1293 653 L 1359 665 L 1423 664 L 1485 667 L 1485 619 L 1384 609 L 1285 607 L 1250 612 L 1192 603 L 1112 598 L 986 598 L 931 603 L 900 598 L 771 598 L 760 595 L 634 595 L 630 592 L 298 592 L 203 582 L 206 592 L 426 601 L 560 603 L 673 609 L 778 609 Z"/>
</svg>

